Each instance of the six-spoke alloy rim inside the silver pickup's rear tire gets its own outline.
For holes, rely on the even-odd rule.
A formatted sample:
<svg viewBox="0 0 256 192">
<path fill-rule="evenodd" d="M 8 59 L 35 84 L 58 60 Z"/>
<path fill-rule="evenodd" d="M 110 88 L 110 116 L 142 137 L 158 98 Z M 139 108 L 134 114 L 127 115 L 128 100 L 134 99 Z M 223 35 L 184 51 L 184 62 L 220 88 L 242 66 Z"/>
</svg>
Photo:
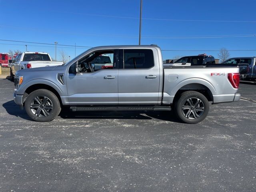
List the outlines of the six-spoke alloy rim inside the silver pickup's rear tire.
<svg viewBox="0 0 256 192">
<path fill-rule="evenodd" d="M 198 98 L 189 98 L 182 105 L 182 113 L 188 119 L 196 119 L 204 113 L 204 103 Z"/>
</svg>

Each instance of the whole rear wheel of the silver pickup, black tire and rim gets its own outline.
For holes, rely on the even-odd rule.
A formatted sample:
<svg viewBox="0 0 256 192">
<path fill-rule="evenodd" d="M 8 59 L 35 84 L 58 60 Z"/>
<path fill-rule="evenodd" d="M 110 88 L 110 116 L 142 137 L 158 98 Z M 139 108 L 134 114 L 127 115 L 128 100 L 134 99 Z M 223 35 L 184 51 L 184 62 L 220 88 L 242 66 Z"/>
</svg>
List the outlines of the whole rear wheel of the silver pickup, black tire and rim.
<svg viewBox="0 0 256 192">
<path fill-rule="evenodd" d="M 174 112 L 184 123 L 196 124 L 204 120 L 209 112 L 207 98 L 196 91 L 186 91 L 180 94 L 174 102 Z"/>
</svg>

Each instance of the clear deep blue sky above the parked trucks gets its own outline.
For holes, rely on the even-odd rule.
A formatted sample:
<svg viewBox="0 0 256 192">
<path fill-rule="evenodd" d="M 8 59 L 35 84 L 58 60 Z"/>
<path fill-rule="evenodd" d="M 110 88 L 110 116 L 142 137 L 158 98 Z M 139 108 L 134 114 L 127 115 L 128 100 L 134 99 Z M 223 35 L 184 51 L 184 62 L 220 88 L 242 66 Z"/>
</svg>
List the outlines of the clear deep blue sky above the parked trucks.
<svg viewBox="0 0 256 192">
<path fill-rule="evenodd" d="M 92 47 L 138 44 L 140 0 L 0 0 L 0 4 L 2 40 Z M 220 48 L 256 50 L 255 5 L 254 0 L 143 0 L 141 44 L 179 50 L 163 51 L 164 59 L 202 53 L 218 58 L 217 51 L 209 50 Z M 24 44 L 28 51 L 55 57 L 54 45 L 0 41 L 0 52 L 25 51 Z M 75 56 L 74 48 L 58 46 L 57 59 L 60 50 Z M 76 55 L 85 50 L 77 48 Z M 234 56 L 256 53 L 230 51 Z"/>
</svg>

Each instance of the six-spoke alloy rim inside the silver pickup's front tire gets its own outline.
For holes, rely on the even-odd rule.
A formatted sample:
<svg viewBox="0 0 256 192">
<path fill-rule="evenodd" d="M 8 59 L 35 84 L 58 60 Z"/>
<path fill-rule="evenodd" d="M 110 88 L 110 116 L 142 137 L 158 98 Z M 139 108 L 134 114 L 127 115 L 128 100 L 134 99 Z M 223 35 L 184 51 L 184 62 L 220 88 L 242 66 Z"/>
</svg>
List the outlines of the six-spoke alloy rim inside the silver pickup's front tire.
<svg viewBox="0 0 256 192">
<path fill-rule="evenodd" d="M 38 117 L 49 116 L 52 109 L 52 101 L 46 96 L 37 96 L 30 103 L 30 110 Z"/>
</svg>

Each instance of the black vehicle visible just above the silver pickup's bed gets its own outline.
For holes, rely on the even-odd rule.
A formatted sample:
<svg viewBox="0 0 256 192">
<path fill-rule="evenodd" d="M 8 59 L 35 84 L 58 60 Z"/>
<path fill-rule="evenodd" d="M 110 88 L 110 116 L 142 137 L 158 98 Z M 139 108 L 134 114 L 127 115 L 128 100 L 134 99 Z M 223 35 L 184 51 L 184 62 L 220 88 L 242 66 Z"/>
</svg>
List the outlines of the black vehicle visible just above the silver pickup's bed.
<svg viewBox="0 0 256 192">
<path fill-rule="evenodd" d="M 191 65 L 205 65 L 215 64 L 213 56 L 206 56 L 206 54 L 199 54 L 198 56 L 186 56 L 178 59 L 174 63 L 191 63 Z"/>
</svg>

